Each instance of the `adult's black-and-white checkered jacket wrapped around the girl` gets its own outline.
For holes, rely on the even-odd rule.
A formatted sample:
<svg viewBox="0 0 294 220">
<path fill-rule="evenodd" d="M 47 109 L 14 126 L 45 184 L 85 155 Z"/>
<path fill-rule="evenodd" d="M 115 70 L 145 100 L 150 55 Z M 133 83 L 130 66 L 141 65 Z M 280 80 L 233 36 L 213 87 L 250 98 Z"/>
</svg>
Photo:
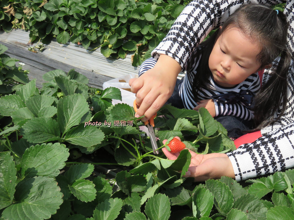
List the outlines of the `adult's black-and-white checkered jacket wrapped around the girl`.
<svg viewBox="0 0 294 220">
<path fill-rule="evenodd" d="M 294 57 L 294 1 L 275 0 L 196 0 L 186 6 L 171 27 L 168 35 L 152 52 L 153 58 L 160 54 L 173 57 L 184 69 L 193 50 L 206 35 L 225 21 L 228 16 L 244 3 L 259 3 L 268 6 L 286 3 L 284 13 L 288 18 L 287 47 Z M 275 61 L 277 62 L 277 61 Z M 273 65 L 274 66 L 274 65 Z M 270 77 L 271 70 L 263 74 L 263 83 Z M 264 128 L 263 137 L 251 144 L 241 145 L 227 153 L 237 181 L 265 175 L 294 167 L 294 65 L 288 74 L 288 105 L 278 123 Z M 279 114 L 279 112 L 277 112 Z"/>
</svg>

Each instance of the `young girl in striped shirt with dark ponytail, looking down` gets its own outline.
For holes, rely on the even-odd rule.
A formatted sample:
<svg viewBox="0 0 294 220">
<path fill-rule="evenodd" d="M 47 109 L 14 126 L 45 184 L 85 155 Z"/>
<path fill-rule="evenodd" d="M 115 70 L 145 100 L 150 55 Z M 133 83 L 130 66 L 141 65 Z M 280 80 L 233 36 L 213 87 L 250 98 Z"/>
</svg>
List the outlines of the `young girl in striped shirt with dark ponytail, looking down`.
<svg viewBox="0 0 294 220">
<path fill-rule="evenodd" d="M 194 110 L 205 107 L 213 117 L 235 116 L 240 121 L 253 119 L 254 110 L 259 129 L 276 121 L 274 111 L 282 100 L 282 111 L 287 104 L 286 76 L 290 65 L 287 27 L 285 16 L 278 10 L 258 4 L 240 7 L 194 50 L 186 64 L 187 74 L 177 80 L 168 103 Z M 279 55 L 281 60 L 273 72 L 275 77 L 259 92 L 258 71 L 271 67 Z M 139 76 L 155 64 L 153 58 L 144 61 Z M 239 126 L 238 122 L 236 126 L 229 123 L 225 128 L 232 130 Z"/>
</svg>

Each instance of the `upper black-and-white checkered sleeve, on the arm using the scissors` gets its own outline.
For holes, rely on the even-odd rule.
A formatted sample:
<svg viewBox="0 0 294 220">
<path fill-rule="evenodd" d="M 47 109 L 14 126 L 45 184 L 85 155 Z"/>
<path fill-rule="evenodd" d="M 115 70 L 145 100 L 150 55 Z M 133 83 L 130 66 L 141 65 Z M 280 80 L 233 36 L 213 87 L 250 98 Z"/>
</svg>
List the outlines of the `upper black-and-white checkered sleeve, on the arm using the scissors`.
<svg viewBox="0 0 294 220">
<path fill-rule="evenodd" d="M 241 4 L 255 2 L 272 6 L 285 3 L 278 0 L 195 0 L 188 4 L 178 16 L 170 31 L 153 50 L 152 56 L 157 60 L 160 54 L 175 59 L 185 68 L 186 61 L 193 50 L 203 41 L 208 33 L 220 26 Z M 294 1 L 288 0 L 284 13 L 290 28 L 288 31 L 288 48 L 294 56 Z"/>
</svg>

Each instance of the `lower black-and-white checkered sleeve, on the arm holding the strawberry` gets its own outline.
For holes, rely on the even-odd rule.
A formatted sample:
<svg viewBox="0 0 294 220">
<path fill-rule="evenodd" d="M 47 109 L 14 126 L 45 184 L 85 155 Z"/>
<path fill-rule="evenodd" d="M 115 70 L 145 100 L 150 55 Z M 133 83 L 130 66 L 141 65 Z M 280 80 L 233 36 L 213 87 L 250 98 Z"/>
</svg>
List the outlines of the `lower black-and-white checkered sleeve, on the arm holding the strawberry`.
<svg viewBox="0 0 294 220">
<path fill-rule="evenodd" d="M 227 153 L 237 181 L 294 166 L 294 121 Z"/>
</svg>

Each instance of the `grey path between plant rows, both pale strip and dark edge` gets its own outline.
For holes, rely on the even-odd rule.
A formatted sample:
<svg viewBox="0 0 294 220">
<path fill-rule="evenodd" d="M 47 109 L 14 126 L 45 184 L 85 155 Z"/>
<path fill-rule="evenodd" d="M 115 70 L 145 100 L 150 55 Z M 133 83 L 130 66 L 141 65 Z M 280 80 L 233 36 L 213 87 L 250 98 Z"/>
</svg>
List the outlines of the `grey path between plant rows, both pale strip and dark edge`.
<svg viewBox="0 0 294 220">
<path fill-rule="evenodd" d="M 99 48 L 91 51 L 93 48 L 86 50 L 81 45 L 70 42 L 59 44 L 56 40 L 46 45 L 42 52 L 33 53 L 28 49 L 37 43 L 29 43 L 29 32 L 20 29 L 9 33 L 0 32 L 0 43 L 9 48 L 5 52 L 7 55 L 26 64 L 23 69 L 30 71 L 30 79 L 36 78 L 39 87 L 44 82 L 44 73 L 55 69 L 65 72 L 75 69 L 89 79 L 90 86 L 99 88 L 102 88 L 103 82 L 112 78 L 130 73 L 138 76 L 139 67 L 131 65 L 130 54 L 125 59 L 115 60 L 104 57 Z M 181 79 L 183 75 L 180 73 L 178 78 Z"/>
</svg>

